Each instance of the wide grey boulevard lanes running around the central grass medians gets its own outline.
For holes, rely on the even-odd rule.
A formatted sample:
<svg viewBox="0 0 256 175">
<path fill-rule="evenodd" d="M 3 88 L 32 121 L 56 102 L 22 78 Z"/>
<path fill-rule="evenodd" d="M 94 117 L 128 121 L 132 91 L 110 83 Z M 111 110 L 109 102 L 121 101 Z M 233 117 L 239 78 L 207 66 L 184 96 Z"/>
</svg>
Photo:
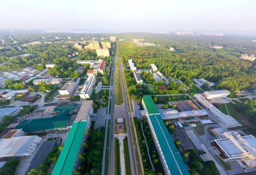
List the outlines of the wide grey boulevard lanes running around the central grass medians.
<svg viewBox="0 0 256 175">
<path fill-rule="evenodd" d="M 116 59 L 119 59 L 116 57 Z M 113 64 L 115 65 L 115 60 L 113 61 Z M 113 66 L 115 67 L 115 66 Z M 114 70 L 113 73 L 113 89 L 112 89 L 112 106 L 111 106 L 111 134 L 110 134 L 110 157 L 109 157 L 109 175 L 115 174 L 115 152 L 114 152 L 114 120 L 117 118 L 125 118 L 126 120 L 126 128 L 127 128 L 127 135 L 128 135 L 128 147 L 129 147 L 129 155 L 130 155 L 130 168 L 132 175 L 137 175 L 137 169 L 136 169 L 136 162 L 134 157 L 134 147 L 132 144 L 131 139 L 131 128 L 130 128 L 130 122 L 129 118 L 130 115 L 128 115 L 127 110 L 127 104 L 126 104 L 126 97 L 125 97 L 125 86 L 124 86 L 124 80 L 122 76 L 122 67 L 121 62 L 119 59 L 119 68 Z M 115 82 L 118 81 L 115 79 L 115 71 L 120 71 L 121 73 L 121 83 L 122 83 L 122 94 L 123 94 L 123 101 L 124 103 L 122 105 L 116 105 L 115 104 Z"/>
</svg>

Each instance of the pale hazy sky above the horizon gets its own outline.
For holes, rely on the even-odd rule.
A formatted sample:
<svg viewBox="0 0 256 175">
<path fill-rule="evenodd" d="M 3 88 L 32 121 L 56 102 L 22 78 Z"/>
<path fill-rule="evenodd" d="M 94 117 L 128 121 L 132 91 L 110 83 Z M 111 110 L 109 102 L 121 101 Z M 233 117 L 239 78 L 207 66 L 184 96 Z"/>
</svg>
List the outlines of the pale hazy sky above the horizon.
<svg viewBox="0 0 256 175">
<path fill-rule="evenodd" d="M 3 0 L 0 28 L 92 33 L 256 30 L 256 0 Z"/>
</svg>

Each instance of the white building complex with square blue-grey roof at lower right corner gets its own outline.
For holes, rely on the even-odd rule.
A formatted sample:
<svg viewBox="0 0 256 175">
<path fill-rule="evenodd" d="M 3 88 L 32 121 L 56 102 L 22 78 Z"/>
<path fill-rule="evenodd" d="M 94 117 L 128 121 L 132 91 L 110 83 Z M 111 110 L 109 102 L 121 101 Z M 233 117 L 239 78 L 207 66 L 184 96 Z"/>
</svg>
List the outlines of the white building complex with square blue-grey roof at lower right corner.
<svg viewBox="0 0 256 175">
<path fill-rule="evenodd" d="M 241 136 L 231 131 L 222 133 L 220 137 L 209 144 L 221 159 L 226 162 L 237 159 L 243 166 L 256 167 L 256 138 L 253 135 Z"/>
</svg>

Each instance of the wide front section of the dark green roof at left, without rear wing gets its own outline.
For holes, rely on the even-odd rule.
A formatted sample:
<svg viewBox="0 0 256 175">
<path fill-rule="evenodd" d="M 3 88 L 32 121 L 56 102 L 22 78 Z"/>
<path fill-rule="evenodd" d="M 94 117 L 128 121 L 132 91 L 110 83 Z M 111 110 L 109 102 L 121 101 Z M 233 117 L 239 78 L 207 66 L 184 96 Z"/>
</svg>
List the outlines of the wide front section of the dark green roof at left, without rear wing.
<svg viewBox="0 0 256 175">
<path fill-rule="evenodd" d="M 15 127 L 15 130 L 22 128 L 24 132 L 33 132 L 64 128 L 67 127 L 70 117 L 71 116 L 23 120 Z"/>
</svg>

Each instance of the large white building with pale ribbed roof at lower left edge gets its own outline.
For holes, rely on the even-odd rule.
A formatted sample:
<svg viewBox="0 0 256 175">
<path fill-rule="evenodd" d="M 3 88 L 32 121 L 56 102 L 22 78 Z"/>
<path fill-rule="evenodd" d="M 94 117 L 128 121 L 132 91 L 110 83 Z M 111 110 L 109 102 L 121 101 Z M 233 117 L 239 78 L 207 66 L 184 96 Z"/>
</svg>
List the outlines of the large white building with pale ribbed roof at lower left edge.
<svg viewBox="0 0 256 175">
<path fill-rule="evenodd" d="M 24 157 L 34 153 L 42 138 L 37 135 L 0 139 L 0 157 Z"/>
</svg>

